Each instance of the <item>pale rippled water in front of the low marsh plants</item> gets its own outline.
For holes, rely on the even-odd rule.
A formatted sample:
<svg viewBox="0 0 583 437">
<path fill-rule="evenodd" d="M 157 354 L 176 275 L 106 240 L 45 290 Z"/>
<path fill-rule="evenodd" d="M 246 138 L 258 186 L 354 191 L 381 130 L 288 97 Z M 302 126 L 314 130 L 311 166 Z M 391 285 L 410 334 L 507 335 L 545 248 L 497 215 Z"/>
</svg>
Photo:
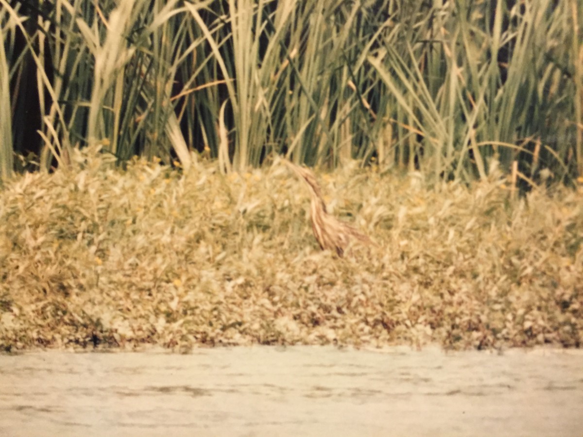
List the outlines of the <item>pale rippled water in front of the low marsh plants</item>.
<svg viewBox="0 0 583 437">
<path fill-rule="evenodd" d="M 583 436 L 583 351 L 1 355 L 0 435 Z"/>
</svg>

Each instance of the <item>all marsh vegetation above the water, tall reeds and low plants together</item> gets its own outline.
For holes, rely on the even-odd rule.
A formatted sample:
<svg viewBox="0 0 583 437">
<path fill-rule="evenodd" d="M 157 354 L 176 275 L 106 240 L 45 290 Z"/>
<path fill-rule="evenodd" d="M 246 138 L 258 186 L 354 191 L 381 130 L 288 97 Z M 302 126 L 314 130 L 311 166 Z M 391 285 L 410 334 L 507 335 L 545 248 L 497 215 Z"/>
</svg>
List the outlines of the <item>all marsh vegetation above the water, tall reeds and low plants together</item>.
<svg viewBox="0 0 583 437">
<path fill-rule="evenodd" d="M 580 4 L 438 3 L 0 0 L 0 345 L 581 346 Z"/>
</svg>

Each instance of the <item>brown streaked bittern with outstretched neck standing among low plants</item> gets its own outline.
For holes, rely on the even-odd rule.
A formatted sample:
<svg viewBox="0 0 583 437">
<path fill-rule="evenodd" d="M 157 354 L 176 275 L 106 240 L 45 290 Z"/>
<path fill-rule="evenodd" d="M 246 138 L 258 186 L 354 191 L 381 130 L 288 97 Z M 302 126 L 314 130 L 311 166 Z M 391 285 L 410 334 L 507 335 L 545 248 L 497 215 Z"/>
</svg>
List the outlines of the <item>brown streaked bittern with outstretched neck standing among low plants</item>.
<svg viewBox="0 0 583 437">
<path fill-rule="evenodd" d="M 351 239 L 370 244 L 371 240 L 366 235 L 354 229 L 347 223 L 336 220 L 328 214 L 326 204 L 322 199 L 322 191 L 318 185 L 314 173 L 305 167 L 298 167 L 288 160 L 283 160 L 296 174 L 303 179 L 310 188 L 310 218 L 314 237 L 322 250 L 330 249 L 342 256 Z"/>
</svg>

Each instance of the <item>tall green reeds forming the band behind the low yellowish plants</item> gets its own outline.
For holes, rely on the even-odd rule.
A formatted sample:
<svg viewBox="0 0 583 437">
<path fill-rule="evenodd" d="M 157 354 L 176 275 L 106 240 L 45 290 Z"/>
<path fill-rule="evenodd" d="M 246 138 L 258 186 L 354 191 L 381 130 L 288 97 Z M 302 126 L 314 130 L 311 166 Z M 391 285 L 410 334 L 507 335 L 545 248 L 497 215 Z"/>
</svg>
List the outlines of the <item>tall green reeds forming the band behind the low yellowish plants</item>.
<svg viewBox="0 0 583 437">
<path fill-rule="evenodd" d="M 38 71 L 43 168 L 101 142 L 184 167 L 205 151 L 227 171 L 274 153 L 466 180 L 491 160 L 528 181 L 582 171 L 577 0 L 54 0 L 27 27 L 0 3 L 4 45 L 20 29 Z M 11 80 L 23 56 L 7 51 Z"/>
</svg>

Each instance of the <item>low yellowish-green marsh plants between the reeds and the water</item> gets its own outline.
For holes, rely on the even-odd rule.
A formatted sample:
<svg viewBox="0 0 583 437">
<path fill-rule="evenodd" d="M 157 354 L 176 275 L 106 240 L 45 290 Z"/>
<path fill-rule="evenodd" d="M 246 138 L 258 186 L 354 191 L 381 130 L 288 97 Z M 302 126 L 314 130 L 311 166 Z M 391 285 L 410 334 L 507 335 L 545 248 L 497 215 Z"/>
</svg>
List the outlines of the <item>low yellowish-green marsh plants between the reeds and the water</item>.
<svg viewBox="0 0 583 437">
<path fill-rule="evenodd" d="M 508 200 L 496 175 L 429 189 L 346 167 L 319 175 L 326 203 L 378 247 L 338 258 L 283 166 L 73 161 L 0 189 L 3 350 L 581 346 L 581 188 Z"/>
</svg>

